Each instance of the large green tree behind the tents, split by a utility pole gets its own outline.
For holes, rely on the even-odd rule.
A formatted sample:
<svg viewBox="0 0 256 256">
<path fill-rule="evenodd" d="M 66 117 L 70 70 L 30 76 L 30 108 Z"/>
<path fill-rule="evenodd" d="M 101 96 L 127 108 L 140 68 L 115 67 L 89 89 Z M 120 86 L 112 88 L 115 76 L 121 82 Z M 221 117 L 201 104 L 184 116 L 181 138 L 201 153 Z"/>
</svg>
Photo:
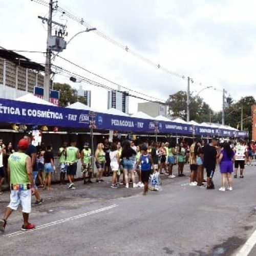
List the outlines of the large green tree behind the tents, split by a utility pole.
<svg viewBox="0 0 256 256">
<path fill-rule="evenodd" d="M 186 92 L 179 91 L 172 94 L 167 99 L 167 104 L 169 105 L 169 114 L 175 117 L 180 117 L 186 119 Z M 190 94 L 190 104 L 189 104 L 190 120 L 195 120 L 196 122 L 208 122 L 210 119 L 210 113 L 212 110 L 209 105 L 203 101 L 198 95 L 193 96 Z"/>
</svg>

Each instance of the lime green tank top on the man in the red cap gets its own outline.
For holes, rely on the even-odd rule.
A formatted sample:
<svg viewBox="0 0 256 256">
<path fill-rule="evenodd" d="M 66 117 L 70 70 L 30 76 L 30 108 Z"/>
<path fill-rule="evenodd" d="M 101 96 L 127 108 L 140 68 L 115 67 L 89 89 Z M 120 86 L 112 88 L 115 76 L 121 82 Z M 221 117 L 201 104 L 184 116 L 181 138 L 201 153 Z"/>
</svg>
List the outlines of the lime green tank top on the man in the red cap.
<svg viewBox="0 0 256 256">
<path fill-rule="evenodd" d="M 25 153 L 15 152 L 8 158 L 11 184 L 30 184 L 26 168 L 27 157 Z"/>
</svg>

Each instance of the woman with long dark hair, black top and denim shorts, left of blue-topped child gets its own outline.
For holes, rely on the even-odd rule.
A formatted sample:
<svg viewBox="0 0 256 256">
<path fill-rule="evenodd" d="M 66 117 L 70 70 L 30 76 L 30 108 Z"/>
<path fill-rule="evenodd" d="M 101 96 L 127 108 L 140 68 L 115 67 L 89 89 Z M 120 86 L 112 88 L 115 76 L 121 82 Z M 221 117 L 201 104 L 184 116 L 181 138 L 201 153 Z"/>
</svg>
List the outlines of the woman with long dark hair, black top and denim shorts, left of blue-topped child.
<svg viewBox="0 0 256 256">
<path fill-rule="evenodd" d="M 134 151 L 133 148 L 130 146 L 129 140 L 124 140 L 121 159 L 122 159 L 124 182 L 125 182 L 126 188 L 129 188 L 129 183 L 128 183 L 129 172 L 131 173 L 133 187 L 136 187 L 135 175 L 133 171 L 134 170 L 133 157 L 136 156 L 136 154 L 137 154 L 136 151 Z"/>
</svg>

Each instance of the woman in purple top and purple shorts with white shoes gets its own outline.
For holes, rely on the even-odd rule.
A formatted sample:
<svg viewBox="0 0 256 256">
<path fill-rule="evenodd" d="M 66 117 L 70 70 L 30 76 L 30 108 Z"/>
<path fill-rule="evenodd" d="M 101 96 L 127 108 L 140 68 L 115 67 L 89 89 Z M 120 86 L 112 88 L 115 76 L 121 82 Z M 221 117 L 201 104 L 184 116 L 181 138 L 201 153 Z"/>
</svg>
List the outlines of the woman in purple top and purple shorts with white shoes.
<svg viewBox="0 0 256 256">
<path fill-rule="evenodd" d="M 220 163 L 220 171 L 222 176 L 222 186 L 219 188 L 220 191 L 225 191 L 226 179 L 228 182 L 227 190 L 232 191 L 232 177 L 233 162 L 236 159 L 234 152 L 231 150 L 228 143 L 224 143 L 223 150 L 220 152 L 218 162 Z"/>
</svg>

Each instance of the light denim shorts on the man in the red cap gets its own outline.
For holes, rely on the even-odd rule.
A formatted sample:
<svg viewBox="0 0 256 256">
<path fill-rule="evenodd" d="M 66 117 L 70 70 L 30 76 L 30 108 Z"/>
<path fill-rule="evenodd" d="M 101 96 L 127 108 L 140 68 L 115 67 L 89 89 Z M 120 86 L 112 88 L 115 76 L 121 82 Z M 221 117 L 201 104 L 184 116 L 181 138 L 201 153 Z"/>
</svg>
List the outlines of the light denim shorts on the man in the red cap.
<svg viewBox="0 0 256 256">
<path fill-rule="evenodd" d="M 19 204 L 22 205 L 22 211 L 26 214 L 31 212 L 31 190 L 11 190 L 10 203 L 8 205 L 12 210 L 17 210 Z"/>
</svg>

